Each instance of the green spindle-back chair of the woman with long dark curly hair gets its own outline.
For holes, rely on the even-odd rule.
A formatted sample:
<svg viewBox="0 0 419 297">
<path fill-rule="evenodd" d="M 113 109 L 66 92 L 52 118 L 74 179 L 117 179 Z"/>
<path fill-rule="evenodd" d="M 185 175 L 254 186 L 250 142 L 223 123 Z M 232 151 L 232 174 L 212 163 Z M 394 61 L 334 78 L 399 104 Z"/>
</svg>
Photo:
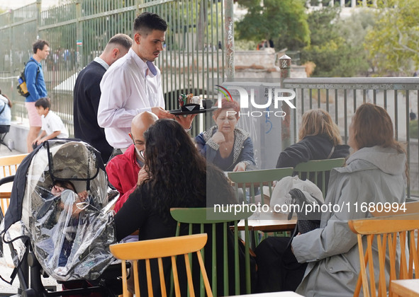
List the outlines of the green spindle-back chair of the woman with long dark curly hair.
<svg viewBox="0 0 419 297">
<path fill-rule="evenodd" d="M 176 235 L 179 236 L 181 223 L 189 224 L 189 235 L 194 232 L 194 225 L 196 227 L 199 226 L 199 233 L 205 233 L 204 227 L 207 228 L 211 226 L 212 230 L 212 247 L 211 247 L 211 288 L 213 289 L 213 295 L 217 296 L 217 257 L 223 257 L 223 296 L 229 295 L 229 274 L 233 272 L 229 272 L 228 270 L 228 261 L 234 261 L 235 269 L 234 269 L 234 286 L 235 286 L 235 293 L 234 295 L 240 295 L 240 260 L 239 260 L 239 232 L 238 231 L 238 223 L 240 220 L 245 221 L 245 280 L 246 280 L 246 293 L 251 293 L 251 274 L 250 274 L 250 249 L 249 249 L 249 229 L 247 226 L 247 218 L 252 215 L 251 211 L 240 211 L 237 213 L 223 213 L 223 212 L 216 212 L 217 219 L 207 219 L 207 214 L 215 214 L 214 208 L 189 208 L 189 209 L 170 209 L 170 214 L 172 215 L 173 219 L 178 222 L 177 224 L 177 231 Z M 220 238 L 217 236 L 216 233 L 216 224 L 223 224 L 223 250 L 217 250 L 216 248 L 216 238 Z M 233 224 L 233 225 L 232 225 Z M 234 259 L 228 259 L 228 243 L 227 243 L 227 236 L 230 228 L 234 226 Z M 220 230 L 218 230 L 220 231 Z M 195 232 L 196 228 L 195 228 Z M 208 238 L 209 241 L 209 238 Z M 208 245 L 208 243 L 207 243 Z M 201 250 L 201 253 L 204 257 L 205 248 Z M 205 257 L 204 257 L 205 258 Z M 201 278 L 201 296 L 205 294 L 205 288 L 203 286 L 203 279 Z"/>
</svg>

